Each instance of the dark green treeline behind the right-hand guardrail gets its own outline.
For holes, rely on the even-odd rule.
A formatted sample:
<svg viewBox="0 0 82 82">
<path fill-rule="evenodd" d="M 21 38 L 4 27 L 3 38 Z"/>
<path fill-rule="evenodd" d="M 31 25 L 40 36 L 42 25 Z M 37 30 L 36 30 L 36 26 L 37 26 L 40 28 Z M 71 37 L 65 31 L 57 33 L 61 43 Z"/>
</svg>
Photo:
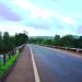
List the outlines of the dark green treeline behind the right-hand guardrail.
<svg viewBox="0 0 82 82">
<path fill-rule="evenodd" d="M 60 47 L 70 47 L 70 48 L 82 48 L 82 36 L 66 35 L 60 37 L 56 35 L 52 39 L 47 38 L 30 38 L 30 43 L 42 44 L 42 45 L 52 45 Z"/>
</svg>

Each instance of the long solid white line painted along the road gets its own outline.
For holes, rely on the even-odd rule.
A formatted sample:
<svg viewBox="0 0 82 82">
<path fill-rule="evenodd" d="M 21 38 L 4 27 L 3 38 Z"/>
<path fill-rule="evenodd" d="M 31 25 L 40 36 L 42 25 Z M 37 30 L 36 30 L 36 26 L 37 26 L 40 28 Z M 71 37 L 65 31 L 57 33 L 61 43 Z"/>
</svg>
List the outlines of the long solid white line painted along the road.
<svg viewBox="0 0 82 82">
<path fill-rule="evenodd" d="M 35 60 L 34 60 L 31 47 L 30 47 L 30 50 L 31 50 L 31 56 L 32 56 L 32 61 L 33 61 L 33 69 L 34 69 L 35 82 L 40 82 L 39 81 L 38 71 L 37 71 L 37 67 L 36 67 L 36 63 L 35 63 Z"/>
</svg>

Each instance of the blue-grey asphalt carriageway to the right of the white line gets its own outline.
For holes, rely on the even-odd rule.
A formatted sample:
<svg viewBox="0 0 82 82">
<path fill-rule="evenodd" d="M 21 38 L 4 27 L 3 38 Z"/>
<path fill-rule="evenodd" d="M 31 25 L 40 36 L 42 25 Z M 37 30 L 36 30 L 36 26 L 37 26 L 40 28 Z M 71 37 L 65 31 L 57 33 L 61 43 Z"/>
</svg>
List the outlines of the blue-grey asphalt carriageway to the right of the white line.
<svg viewBox="0 0 82 82">
<path fill-rule="evenodd" d="M 30 45 L 40 82 L 82 82 L 82 57 Z"/>
</svg>

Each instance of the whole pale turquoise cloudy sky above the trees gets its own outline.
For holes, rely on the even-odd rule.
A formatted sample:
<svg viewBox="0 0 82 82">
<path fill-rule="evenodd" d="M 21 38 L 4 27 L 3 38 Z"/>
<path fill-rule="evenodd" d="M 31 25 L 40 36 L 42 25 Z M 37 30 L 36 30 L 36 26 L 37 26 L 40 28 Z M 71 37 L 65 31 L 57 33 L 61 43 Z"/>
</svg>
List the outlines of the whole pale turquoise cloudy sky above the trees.
<svg viewBox="0 0 82 82">
<path fill-rule="evenodd" d="M 82 0 L 0 0 L 0 32 L 82 35 Z"/>
</svg>

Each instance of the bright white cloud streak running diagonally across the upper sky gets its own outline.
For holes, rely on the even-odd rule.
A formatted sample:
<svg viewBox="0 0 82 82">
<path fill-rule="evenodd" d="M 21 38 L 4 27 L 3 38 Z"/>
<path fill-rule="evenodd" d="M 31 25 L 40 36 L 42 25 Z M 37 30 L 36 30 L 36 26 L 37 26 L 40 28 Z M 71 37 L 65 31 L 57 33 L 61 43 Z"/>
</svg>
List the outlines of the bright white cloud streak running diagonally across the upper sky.
<svg viewBox="0 0 82 82">
<path fill-rule="evenodd" d="M 12 3 L 16 4 L 17 7 L 20 7 L 25 11 L 30 11 L 31 19 L 42 17 L 44 20 L 49 20 L 50 16 L 52 16 L 67 24 L 77 23 L 77 21 L 73 20 L 72 17 L 65 16 L 56 12 L 51 12 L 50 10 L 40 9 L 34 5 L 33 3 L 31 3 L 28 0 L 13 0 Z"/>
</svg>

